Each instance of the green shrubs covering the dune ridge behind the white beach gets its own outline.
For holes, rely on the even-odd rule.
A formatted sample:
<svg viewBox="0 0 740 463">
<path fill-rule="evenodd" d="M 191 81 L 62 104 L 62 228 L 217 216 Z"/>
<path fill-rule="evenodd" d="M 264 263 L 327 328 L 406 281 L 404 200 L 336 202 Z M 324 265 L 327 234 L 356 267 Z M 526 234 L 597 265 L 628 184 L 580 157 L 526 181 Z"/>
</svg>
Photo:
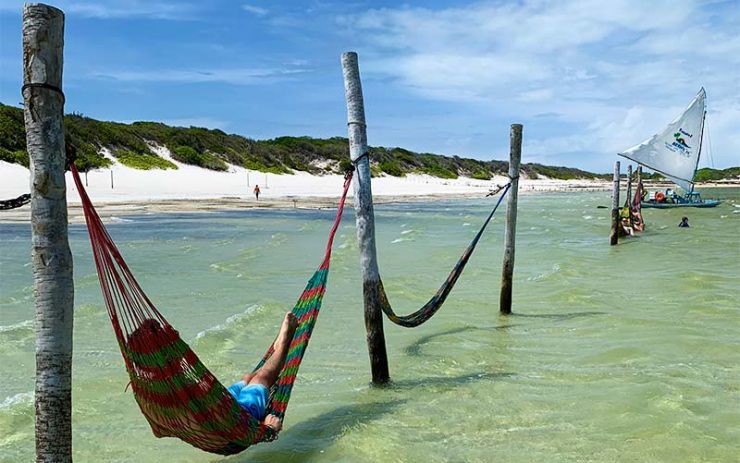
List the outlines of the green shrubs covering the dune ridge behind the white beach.
<svg viewBox="0 0 740 463">
<path fill-rule="evenodd" d="M 111 161 L 101 154 L 107 149 L 122 164 L 136 169 L 175 169 L 177 166 L 158 156 L 153 146 L 167 147 L 176 161 L 205 169 L 225 171 L 229 164 L 274 174 L 295 171 L 314 175 L 342 173 L 349 167 L 349 148 L 343 137 L 278 137 L 252 140 L 222 130 L 202 127 L 170 127 L 159 122 L 122 124 L 105 122 L 81 114 L 65 116 L 68 141 L 77 149 L 75 164 L 80 170 L 107 167 Z M 403 148 L 370 147 L 373 176 L 427 174 L 455 179 L 460 176 L 488 180 L 506 175 L 506 161 L 480 161 L 459 156 L 415 153 Z M 28 166 L 23 111 L 0 103 L 0 160 Z M 562 166 L 522 164 L 530 178 L 605 179 L 612 174 L 594 174 Z M 659 174 L 655 174 L 656 176 Z M 701 169 L 698 181 L 737 178 L 740 168 Z M 650 178 L 650 174 L 645 174 Z"/>
</svg>

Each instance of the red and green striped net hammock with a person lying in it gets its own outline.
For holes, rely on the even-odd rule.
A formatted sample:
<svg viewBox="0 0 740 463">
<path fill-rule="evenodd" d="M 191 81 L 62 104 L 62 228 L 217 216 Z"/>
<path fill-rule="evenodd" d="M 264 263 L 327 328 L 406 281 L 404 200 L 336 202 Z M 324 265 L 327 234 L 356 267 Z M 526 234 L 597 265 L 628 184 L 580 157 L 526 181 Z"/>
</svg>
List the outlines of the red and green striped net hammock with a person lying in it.
<svg viewBox="0 0 740 463">
<path fill-rule="evenodd" d="M 95 211 L 74 164 L 70 169 L 82 199 L 100 286 L 131 389 L 154 435 L 177 437 L 201 450 L 221 455 L 235 454 L 252 444 L 276 439 L 277 432 L 252 417 L 234 400 L 144 294 Z M 351 180 L 350 172 L 344 181 L 324 259 L 293 308 L 299 325 L 285 365 L 270 389 L 267 405 L 267 414 L 281 419 L 319 315 L 332 242 Z M 271 345 L 255 370 L 272 353 Z"/>
</svg>

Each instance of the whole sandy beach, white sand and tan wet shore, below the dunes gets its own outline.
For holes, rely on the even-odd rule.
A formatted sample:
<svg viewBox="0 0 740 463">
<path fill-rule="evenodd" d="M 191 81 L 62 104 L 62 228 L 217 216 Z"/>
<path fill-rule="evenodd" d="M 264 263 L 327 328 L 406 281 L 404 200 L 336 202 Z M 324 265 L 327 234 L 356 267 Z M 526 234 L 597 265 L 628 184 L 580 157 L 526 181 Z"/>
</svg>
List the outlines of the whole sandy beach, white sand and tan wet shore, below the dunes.
<svg viewBox="0 0 740 463">
<path fill-rule="evenodd" d="M 335 207 L 341 193 L 342 176 L 266 174 L 230 165 L 217 172 L 175 161 L 166 148 L 155 148 L 161 157 L 171 160 L 178 169 L 136 170 L 114 161 L 111 168 L 83 175 L 87 191 L 104 219 L 131 214 L 200 212 L 241 208 L 324 208 Z M 106 153 L 107 155 L 107 153 Z M 109 158 L 113 159 L 108 155 Z M 69 220 L 83 221 L 80 197 L 67 173 Z M 405 177 L 384 176 L 373 179 L 373 196 L 377 203 L 429 201 L 436 198 L 479 198 L 508 179 L 491 180 L 467 177 L 442 179 L 411 174 Z M 0 161 L 0 199 L 15 198 L 29 191 L 30 171 L 17 164 Z M 257 200 L 253 194 L 259 185 Z M 611 182 L 590 180 L 520 179 L 520 191 L 598 191 L 611 188 Z M 350 190 L 350 196 L 352 190 Z M 350 201 L 351 205 L 351 201 Z M 0 222 L 27 222 L 28 205 L 0 211 Z"/>
</svg>

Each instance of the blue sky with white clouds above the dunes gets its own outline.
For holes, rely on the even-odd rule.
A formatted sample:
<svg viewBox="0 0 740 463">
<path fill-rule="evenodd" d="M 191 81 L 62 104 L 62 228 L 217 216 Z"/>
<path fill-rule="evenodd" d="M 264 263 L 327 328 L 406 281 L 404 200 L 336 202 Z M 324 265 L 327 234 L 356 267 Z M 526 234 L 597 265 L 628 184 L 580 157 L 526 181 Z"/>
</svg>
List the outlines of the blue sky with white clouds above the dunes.
<svg viewBox="0 0 740 463">
<path fill-rule="evenodd" d="M 0 102 L 22 1 L 0 0 Z M 372 146 L 610 172 L 707 91 L 700 166 L 740 165 L 740 0 L 59 0 L 65 111 L 255 139 L 346 136 L 359 55 Z M 623 164 L 626 160 L 622 159 Z"/>
</svg>

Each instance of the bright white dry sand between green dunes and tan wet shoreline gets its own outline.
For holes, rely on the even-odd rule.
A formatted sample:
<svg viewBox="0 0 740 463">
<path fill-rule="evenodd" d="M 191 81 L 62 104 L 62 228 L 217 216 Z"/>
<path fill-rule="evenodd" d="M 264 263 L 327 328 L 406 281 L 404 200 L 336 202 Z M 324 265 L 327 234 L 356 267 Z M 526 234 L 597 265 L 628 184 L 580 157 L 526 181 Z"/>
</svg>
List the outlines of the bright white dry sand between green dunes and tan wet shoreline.
<svg viewBox="0 0 740 463">
<path fill-rule="evenodd" d="M 148 171 L 131 169 L 114 161 L 112 168 L 98 169 L 87 176 L 87 191 L 98 202 L 136 202 L 168 199 L 214 199 L 223 197 L 252 198 L 255 185 L 262 193 L 260 199 L 290 197 L 336 197 L 341 193 L 342 177 L 339 175 L 316 176 L 305 172 L 293 175 L 265 174 L 234 165 L 228 172 L 215 172 L 174 161 L 169 150 L 154 147 L 157 154 L 174 162 L 178 169 Z M 106 157 L 113 159 L 107 152 Z M 83 175 L 83 180 L 85 174 Z M 112 179 L 112 185 L 111 185 Z M 247 180 L 248 179 L 248 180 Z M 475 180 L 460 177 L 454 180 L 428 175 L 410 174 L 406 177 L 385 176 L 373 179 L 375 196 L 429 196 L 429 195 L 484 195 L 496 185 L 507 182 L 506 177 Z M 8 199 L 29 192 L 30 172 L 17 164 L 0 161 L 0 199 Z M 599 188 L 605 182 L 528 180 L 520 181 L 520 188 L 527 190 L 554 190 L 567 188 Z M 350 192 L 351 195 L 351 192 Z M 72 174 L 67 173 L 67 201 L 79 203 Z"/>
</svg>

